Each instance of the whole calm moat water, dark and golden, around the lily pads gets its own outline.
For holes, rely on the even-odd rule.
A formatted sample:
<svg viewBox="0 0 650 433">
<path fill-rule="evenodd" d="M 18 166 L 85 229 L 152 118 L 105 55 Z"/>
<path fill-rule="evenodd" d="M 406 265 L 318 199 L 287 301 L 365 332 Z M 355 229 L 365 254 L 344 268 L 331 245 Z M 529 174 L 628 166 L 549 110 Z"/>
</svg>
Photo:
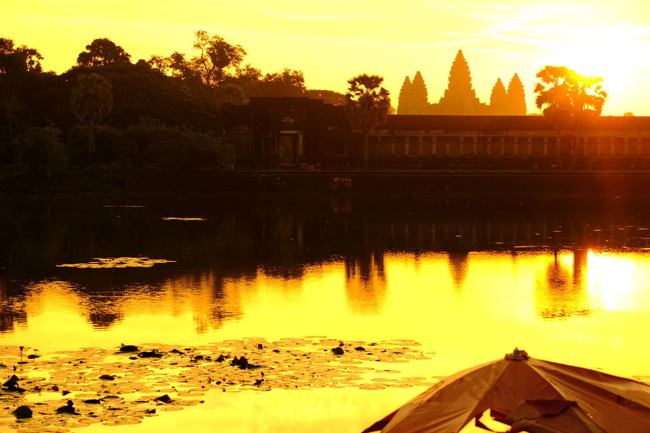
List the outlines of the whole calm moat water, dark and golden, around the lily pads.
<svg viewBox="0 0 650 433">
<path fill-rule="evenodd" d="M 414 339 L 435 356 L 397 364 L 404 376 L 445 376 L 515 346 L 650 376 L 650 211 L 642 202 L 133 197 L 0 205 L 0 345 L 51 352 L 253 336 Z M 169 263 L 98 267 L 97 259 L 114 257 Z M 205 404 L 118 430 L 359 432 L 423 390 L 210 393 Z"/>
</svg>

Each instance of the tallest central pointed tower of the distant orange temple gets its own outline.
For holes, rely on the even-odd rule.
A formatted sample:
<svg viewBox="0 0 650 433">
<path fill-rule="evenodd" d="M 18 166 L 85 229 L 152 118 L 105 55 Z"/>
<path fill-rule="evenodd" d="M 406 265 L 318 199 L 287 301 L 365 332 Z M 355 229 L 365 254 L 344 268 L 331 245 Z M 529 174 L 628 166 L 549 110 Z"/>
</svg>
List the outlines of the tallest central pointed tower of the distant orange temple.
<svg viewBox="0 0 650 433">
<path fill-rule="evenodd" d="M 467 60 L 463 57 L 463 51 L 460 49 L 449 71 L 449 83 L 445 90 L 445 96 L 440 98 L 438 105 L 441 114 L 482 114 L 476 112 L 480 102 L 472 88 L 472 77 Z"/>
</svg>

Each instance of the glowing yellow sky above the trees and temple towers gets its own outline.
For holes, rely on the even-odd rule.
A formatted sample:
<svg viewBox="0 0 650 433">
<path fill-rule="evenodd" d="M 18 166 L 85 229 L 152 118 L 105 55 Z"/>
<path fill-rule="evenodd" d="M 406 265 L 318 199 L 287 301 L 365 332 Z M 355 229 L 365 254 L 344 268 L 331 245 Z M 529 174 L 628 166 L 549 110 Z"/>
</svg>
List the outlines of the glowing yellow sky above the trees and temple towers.
<svg viewBox="0 0 650 433">
<path fill-rule="evenodd" d="M 25 0 L 3 5 L 0 36 L 36 47 L 45 68 L 64 72 L 94 38 L 110 38 L 133 60 L 191 54 L 196 30 L 240 44 L 263 72 L 302 70 L 309 88 L 343 92 L 358 73 L 385 77 L 393 105 L 406 75 L 420 70 L 437 102 L 462 49 L 482 101 L 497 78 L 519 73 L 528 112 L 545 64 L 601 75 L 604 114 L 650 115 L 650 3 L 470 0 Z"/>
</svg>

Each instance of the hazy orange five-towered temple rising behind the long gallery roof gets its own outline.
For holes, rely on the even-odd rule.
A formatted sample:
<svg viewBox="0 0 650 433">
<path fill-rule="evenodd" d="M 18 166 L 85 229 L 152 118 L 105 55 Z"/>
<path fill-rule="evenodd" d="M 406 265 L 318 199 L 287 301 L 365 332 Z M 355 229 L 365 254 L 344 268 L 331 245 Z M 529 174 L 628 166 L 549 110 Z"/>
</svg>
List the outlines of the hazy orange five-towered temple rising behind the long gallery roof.
<svg viewBox="0 0 650 433">
<path fill-rule="evenodd" d="M 463 51 L 458 50 L 449 72 L 449 83 L 445 95 L 438 103 L 428 101 L 426 84 L 418 71 L 413 81 L 406 77 L 397 107 L 397 114 L 449 114 L 456 116 L 525 116 L 526 99 L 524 86 L 515 73 L 508 89 L 497 79 L 489 105 L 476 98 L 472 77 Z"/>
</svg>

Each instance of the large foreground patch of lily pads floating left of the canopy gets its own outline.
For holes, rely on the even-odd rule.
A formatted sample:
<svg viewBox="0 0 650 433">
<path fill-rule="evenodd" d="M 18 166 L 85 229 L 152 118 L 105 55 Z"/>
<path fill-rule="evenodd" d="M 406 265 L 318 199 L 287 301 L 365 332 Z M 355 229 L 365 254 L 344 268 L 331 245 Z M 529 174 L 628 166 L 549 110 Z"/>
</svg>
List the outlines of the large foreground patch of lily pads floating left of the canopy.
<svg viewBox="0 0 650 433">
<path fill-rule="evenodd" d="M 145 343 L 34 352 L 24 361 L 22 348 L 0 347 L 0 374 L 5 371 L 8 379 L 0 390 L 0 427 L 62 433 L 93 423 L 136 424 L 157 412 L 201 404 L 200 397 L 212 389 L 431 386 L 435 378 L 399 377 L 400 371 L 385 369 L 385 363 L 431 359 L 418 345 L 252 337 L 198 347 Z"/>
</svg>

